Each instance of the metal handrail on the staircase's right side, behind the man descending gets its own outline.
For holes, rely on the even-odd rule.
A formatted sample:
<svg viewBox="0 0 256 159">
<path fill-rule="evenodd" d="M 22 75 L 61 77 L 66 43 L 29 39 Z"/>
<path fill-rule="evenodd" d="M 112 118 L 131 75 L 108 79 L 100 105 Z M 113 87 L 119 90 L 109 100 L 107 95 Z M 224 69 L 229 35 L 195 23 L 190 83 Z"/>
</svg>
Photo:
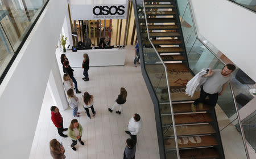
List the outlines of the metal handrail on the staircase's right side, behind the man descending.
<svg viewBox="0 0 256 159">
<path fill-rule="evenodd" d="M 198 37 L 197 35 L 197 30 L 196 30 L 196 24 L 195 24 L 195 21 L 194 21 L 194 17 L 193 17 L 193 12 L 192 12 L 192 9 L 191 9 L 191 3 L 190 3 L 191 0 L 188 0 L 188 5 L 189 5 L 189 11 L 191 13 L 191 18 L 192 18 L 192 22 L 193 22 L 193 25 L 194 25 L 194 31 L 196 33 L 196 38 L 197 40 L 199 40 L 204 46 L 205 48 L 207 48 L 218 60 L 220 60 L 222 62 L 222 64 L 226 65 L 224 61 L 222 61 L 215 53 L 212 49 L 210 49 L 207 45 L 204 44 L 203 41 L 200 40 L 200 38 Z M 250 156 L 249 156 L 249 152 L 248 152 L 248 149 L 247 149 L 247 145 L 246 145 L 246 139 L 245 139 L 245 133 L 243 132 L 243 127 L 242 127 L 242 122 L 241 122 L 241 118 L 240 118 L 240 114 L 239 114 L 239 111 L 238 111 L 238 106 L 237 106 L 237 101 L 236 101 L 236 97 L 234 95 L 234 90 L 233 90 L 233 86 L 231 83 L 229 83 L 230 85 L 230 89 L 231 89 L 231 92 L 232 92 L 232 97 L 233 97 L 233 101 L 234 101 L 234 105 L 235 105 L 235 108 L 236 108 L 236 111 L 237 111 L 237 119 L 238 119 L 238 123 L 240 125 L 240 128 L 241 128 L 241 134 L 242 134 L 242 139 L 243 139 L 243 145 L 245 145 L 245 152 L 246 152 L 246 156 L 247 158 L 250 159 Z"/>
</svg>

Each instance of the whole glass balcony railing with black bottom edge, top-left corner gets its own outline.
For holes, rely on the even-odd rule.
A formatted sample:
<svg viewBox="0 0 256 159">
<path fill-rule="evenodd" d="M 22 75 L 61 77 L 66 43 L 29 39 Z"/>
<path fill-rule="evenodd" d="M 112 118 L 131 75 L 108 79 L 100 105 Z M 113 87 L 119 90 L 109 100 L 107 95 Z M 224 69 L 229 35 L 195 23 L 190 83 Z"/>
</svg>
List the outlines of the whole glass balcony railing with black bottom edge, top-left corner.
<svg viewBox="0 0 256 159">
<path fill-rule="evenodd" d="M 0 83 L 49 0 L 0 0 Z"/>
</svg>

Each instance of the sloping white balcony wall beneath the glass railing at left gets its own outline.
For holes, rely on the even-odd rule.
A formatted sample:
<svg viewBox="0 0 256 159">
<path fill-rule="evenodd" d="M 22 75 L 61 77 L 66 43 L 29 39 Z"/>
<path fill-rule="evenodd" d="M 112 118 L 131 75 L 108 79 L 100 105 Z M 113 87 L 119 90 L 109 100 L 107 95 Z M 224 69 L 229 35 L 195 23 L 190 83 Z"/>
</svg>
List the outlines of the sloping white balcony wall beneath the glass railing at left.
<svg viewBox="0 0 256 159">
<path fill-rule="evenodd" d="M 29 157 L 66 11 L 67 1 L 49 1 L 0 85 L 1 158 Z"/>
</svg>

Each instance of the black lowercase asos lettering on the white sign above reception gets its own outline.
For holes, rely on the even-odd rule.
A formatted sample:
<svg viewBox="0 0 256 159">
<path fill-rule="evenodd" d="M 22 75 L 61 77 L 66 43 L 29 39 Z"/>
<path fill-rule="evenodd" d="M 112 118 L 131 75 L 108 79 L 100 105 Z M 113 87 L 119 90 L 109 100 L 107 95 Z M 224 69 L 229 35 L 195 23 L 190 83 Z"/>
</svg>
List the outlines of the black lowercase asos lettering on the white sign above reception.
<svg viewBox="0 0 256 159">
<path fill-rule="evenodd" d="M 123 10 L 125 6 L 96 6 L 93 8 L 94 15 L 123 15 L 125 14 L 125 10 Z"/>
</svg>

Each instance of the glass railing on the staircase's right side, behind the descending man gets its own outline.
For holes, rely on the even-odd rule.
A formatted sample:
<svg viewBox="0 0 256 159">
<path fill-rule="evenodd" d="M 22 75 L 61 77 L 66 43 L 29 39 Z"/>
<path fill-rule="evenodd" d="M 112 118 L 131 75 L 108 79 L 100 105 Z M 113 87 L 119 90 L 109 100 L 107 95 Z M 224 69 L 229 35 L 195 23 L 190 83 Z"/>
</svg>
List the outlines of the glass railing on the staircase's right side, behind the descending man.
<svg viewBox="0 0 256 159">
<path fill-rule="evenodd" d="M 199 38 L 197 38 L 197 32 L 195 23 L 193 23 L 192 10 L 189 0 L 184 0 L 177 3 L 179 7 L 181 20 L 181 27 L 183 31 L 184 40 L 188 55 L 189 67 L 194 74 L 197 74 L 202 68 L 212 68 L 213 70 L 221 70 L 225 63 L 213 53 Z M 180 6 L 179 6 L 180 5 Z M 184 7 L 186 6 L 186 7 Z M 247 155 L 247 148 L 245 144 L 244 134 L 241 128 L 241 121 L 238 114 L 238 106 L 236 98 L 234 97 L 234 90 L 232 85 L 228 85 L 225 92 L 218 96 L 218 102 L 216 106 L 216 116 L 218 119 L 218 126 L 222 140 L 222 146 L 224 148 L 224 154 L 226 158 L 232 157 L 232 153 L 236 152 L 237 158 L 249 158 Z M 232 124 L 230 124 L 232 123 Z M 238 123 L 238 126 L 235 125 Z M 232 141 L 232 142 L 230 142 Z"/>
</svg>

